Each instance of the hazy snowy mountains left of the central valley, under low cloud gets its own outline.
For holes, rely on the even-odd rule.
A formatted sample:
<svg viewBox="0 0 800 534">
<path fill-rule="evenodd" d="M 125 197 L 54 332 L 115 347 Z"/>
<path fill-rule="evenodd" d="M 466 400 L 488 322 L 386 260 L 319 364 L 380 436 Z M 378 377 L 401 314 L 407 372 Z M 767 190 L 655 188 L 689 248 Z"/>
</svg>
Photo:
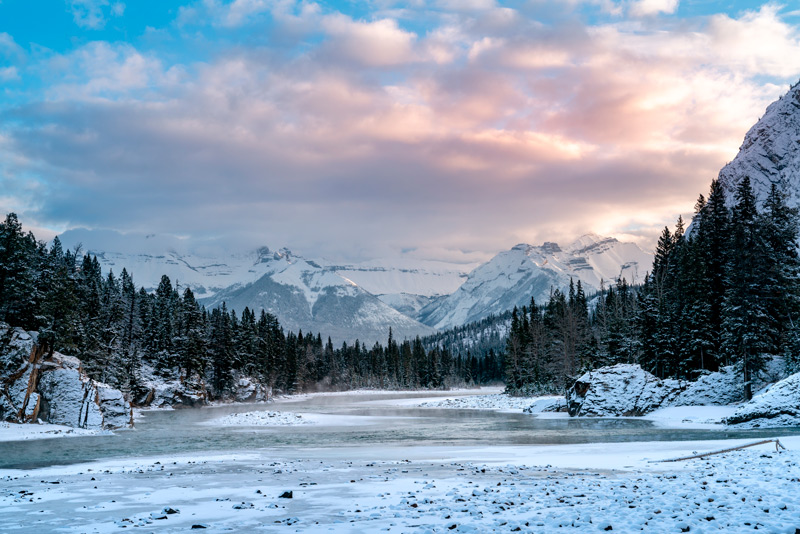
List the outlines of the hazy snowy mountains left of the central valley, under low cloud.
<svg viewBox="0 0 800 534">
<path fill-rule="evenodd" d="M 173 284 L 190 287 L 207 307 L 226 302 L 238 312 L 263 308 L 287 329 L 320 332 L 337 344 L 385 342 L 389 327 L 398 339 L 433 333 L 413 315 L 454 291 L 471 267 L 412 259 L 341 265 L 287 249 L 230 250 L 215 241 L 106 230 L 69 230 L 59 238 L 65 248 L 81 246 L 97 256 L 104 272 L 119 275 L 126 268 L 145 289 L 155 289 L 166 274 Z"/>
</svg>

